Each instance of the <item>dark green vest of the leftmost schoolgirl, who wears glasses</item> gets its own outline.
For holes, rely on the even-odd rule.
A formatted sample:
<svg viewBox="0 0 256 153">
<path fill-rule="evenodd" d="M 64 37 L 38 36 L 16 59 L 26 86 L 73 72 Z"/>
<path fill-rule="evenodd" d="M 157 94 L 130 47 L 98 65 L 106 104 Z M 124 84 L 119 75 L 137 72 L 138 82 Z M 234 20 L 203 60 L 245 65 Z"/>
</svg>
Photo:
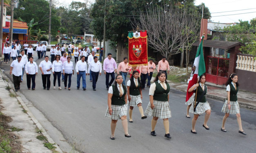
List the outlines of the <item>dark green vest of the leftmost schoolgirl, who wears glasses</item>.
<svg viewBox="0 0 256 153">
<path fill-rule="evenodd" d="M 115 85 L 112 85 L 112 88 L 113 88 L 113 96 L 111 98 L 111 105 L 125 105 L 125 95 L 127 92 L 125 85 L 122 85 L 122 88 L 124 90 L 122 97 L 119 96 L 119 90 L 116 90 Z"/>
</svg>

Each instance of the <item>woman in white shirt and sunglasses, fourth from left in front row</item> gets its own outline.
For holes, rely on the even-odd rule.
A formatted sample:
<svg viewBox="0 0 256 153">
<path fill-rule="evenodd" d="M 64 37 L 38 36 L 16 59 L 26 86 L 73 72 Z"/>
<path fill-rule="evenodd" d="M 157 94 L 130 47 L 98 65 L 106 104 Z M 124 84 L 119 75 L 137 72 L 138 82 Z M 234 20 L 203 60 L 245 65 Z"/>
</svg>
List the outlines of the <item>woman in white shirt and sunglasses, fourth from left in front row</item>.
<svg viewBox="0 0 256 153">
<path fill-rule="evenodd" d="M 58 86 L 59 86 L 59 90 L 61 90 L 61 87 L 60 87 L 61 70 L 63 70 L 62 61 L 60 61 L 60 56 L 56 55 L 55 58 L 54 58 L 54 61 L 52 63 L 53 89 L 56 89 L 55 84 L 56 84 L 56 79 L 58 77 Z"/>
</svg>

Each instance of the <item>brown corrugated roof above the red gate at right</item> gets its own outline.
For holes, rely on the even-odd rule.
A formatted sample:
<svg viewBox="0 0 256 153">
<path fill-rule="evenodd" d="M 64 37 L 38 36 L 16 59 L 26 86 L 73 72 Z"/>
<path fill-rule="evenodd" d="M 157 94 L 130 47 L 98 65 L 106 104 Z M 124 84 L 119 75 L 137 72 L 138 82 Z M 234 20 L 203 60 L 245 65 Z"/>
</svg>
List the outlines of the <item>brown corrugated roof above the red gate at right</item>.
<svg viewBox="0 0 256 153">
<path fill-rule="evenodd" d="M 200 41 L 195 42 L 193 46 L 199 46 Z M 222 49 L 230 49 L 237 45 L 245 46 L 240 42 L 228 42 L 228 41 L 220 41 L 220 40 L 204 40 L 203 47 L 213 47 L 213 48 L 222 48 Z"/>
</svg>

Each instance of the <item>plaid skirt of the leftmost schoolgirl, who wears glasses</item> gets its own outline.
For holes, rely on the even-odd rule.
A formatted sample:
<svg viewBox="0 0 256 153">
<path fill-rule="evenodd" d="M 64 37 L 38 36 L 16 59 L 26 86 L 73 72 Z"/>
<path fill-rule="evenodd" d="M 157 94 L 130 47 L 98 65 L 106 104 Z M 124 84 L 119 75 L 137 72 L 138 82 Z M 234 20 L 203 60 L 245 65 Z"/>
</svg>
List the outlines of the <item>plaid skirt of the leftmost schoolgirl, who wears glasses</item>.
<svg viewBox="0 0 256 153">
<path fill-rule="evenodd" d="M 128 105 L 111 105 L 112 115 L 109 114 L 109 108 L 107 108 L 105 117 L 111 120 L 118 120 L 122 116 L 127 116 Z"/>
</svg>

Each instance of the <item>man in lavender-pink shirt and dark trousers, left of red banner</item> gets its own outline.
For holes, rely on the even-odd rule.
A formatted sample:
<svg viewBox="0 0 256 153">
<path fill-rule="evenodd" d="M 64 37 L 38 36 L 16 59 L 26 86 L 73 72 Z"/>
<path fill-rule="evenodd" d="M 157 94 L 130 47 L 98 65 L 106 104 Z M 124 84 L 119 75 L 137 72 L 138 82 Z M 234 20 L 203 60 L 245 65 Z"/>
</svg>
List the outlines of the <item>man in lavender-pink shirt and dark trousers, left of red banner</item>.
<svg viewBox="0 0 256 153">
<path fill-rule="evenodd" d="M 103 70 L 104 74 L 106 75 L 106 87 L 107 90 L 109 90 L 109 86 L 114 82 L 115 80 L 115 72 L 116 72 L 116 61 L 112 58 L 112 54 L 108 53 L 107 58 L 104 59 L 103 62 Z M 109 75 L 111 75 L 111 80 L 109 82 Z"/>
</svg>

